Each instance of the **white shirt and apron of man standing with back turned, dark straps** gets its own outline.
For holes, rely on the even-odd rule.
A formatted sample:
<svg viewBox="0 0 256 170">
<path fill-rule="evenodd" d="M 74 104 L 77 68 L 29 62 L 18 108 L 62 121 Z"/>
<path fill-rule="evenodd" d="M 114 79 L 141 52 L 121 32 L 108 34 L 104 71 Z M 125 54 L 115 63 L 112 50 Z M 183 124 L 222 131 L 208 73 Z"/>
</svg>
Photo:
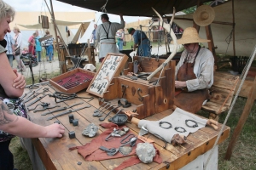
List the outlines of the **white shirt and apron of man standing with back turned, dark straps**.
<svg viewBox="0 0 256 170">
<path fill-rule="evenodd" d="M 108 32 L 108 38 L 107 33 Z M 96 40 L 100 42 L 100 52 L 99 59 L 102 59 L 107 56 L 108 53 L 119 53 L 119 49 L 116 47 L 115 42 L 115 34 L 119 29 L 123 29 L 125 27 L 125 21 L 121 20 L 121 23 L 112 22 L 109 28 L 109 22 L 104 22 L 102 25 L 98 26 L 96 29 Z M 109 29 L 109 31 L 108 31 Z"/>
</svg>

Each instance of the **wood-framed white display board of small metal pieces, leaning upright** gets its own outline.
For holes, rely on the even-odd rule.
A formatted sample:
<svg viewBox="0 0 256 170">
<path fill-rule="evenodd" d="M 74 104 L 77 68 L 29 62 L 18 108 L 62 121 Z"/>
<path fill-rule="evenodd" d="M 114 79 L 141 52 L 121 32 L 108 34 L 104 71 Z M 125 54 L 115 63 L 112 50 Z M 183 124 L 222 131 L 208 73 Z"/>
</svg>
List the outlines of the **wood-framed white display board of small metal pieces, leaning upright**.
<svg viewBox="0 0 256 170">
<path fill-rule="evenodd" d="M 108 86 L 112 82 L 113 77 L 119 77 L 127 59 L 128 57 L 125 54 L 109 53 L 102 61 L 96 76 L 90 82 L 87 92 L 102 98 L 107 93 Z"/>
</svg>

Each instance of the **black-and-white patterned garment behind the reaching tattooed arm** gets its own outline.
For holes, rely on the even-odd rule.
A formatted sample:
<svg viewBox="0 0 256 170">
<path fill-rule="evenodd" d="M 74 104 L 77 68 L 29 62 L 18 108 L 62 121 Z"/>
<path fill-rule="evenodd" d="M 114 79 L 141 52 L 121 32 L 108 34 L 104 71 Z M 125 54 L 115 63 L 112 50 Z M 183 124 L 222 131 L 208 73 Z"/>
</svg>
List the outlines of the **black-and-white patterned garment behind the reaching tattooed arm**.
<svg viewBox="0 0 256 170">
<path fill-rule="evenodd" d="M 24 118 L 27 118 L 26 106 L 24 105 L 24 103 L 22 103 L 22 99 L 20 98 L 3 99 L 2 97 L 0 97 L 0 99 L 3 100 L 3 103 L 7 105 L 9 110 L 12 111 L 16 116 L 22 116 Z M 3 130 L 0 130 L 0 142 L 8 141 L 14 137 L 15 135 L 9 134 L 4 132 Z"/>
</svg>

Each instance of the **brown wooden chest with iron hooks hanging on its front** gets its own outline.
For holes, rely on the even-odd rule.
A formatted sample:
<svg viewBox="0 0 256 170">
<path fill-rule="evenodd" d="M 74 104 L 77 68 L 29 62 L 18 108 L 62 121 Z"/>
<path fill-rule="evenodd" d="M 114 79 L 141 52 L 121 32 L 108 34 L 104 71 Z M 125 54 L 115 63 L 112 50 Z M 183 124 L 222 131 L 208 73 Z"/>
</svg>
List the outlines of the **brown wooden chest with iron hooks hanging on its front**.
<svg viewBox="0 0 256 170">
<path fill-rule="evenodd" d="M 133 60 L 140 59 L 135 56 Z M 150 59 L 143 57 L 140 65 L 143 72 L 153 72 L 165 59 Z M 175 94 L 175 61 L 171 61 L 166 65 L 162 75 L 158 73 L 154 78 L 160 77 L 157 85 L 148 83 L 142 79 L 131 80 L 129 77 L 121 76 L 114 77 L 108 87 L 108 91 L 103 95 L 104 99 L 111 100 L 113 105 L 118 105 L 118 100 L 125 98 L 131 103 L 131 107 L 125 109 L 126 111 L 136 111 L 137 118 L 143 119 L 145 117 L 154 115 L 161 111 L 171 109 L 173 106 L 173 99 Z M 124 74 L 133 72 L 133 63 L 128 64 L 128 68 L 124 70 Z M 125 86 L 125 92 L 123 90 Z"/>
</svg>

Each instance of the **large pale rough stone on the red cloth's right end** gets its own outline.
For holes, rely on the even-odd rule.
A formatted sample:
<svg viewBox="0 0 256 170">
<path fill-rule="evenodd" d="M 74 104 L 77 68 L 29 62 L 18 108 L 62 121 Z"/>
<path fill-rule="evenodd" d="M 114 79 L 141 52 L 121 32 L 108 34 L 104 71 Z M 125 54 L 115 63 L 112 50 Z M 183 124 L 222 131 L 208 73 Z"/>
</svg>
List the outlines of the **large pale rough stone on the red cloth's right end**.
<svg viewBox="0 0 256 170">
<path fill-rule="evenodd" d="M 149 143 L 139 143 L 137 144 L 136 154 L 143 163 L 150 163 L 155 156 L 154 145 Z"/>
</svg>

